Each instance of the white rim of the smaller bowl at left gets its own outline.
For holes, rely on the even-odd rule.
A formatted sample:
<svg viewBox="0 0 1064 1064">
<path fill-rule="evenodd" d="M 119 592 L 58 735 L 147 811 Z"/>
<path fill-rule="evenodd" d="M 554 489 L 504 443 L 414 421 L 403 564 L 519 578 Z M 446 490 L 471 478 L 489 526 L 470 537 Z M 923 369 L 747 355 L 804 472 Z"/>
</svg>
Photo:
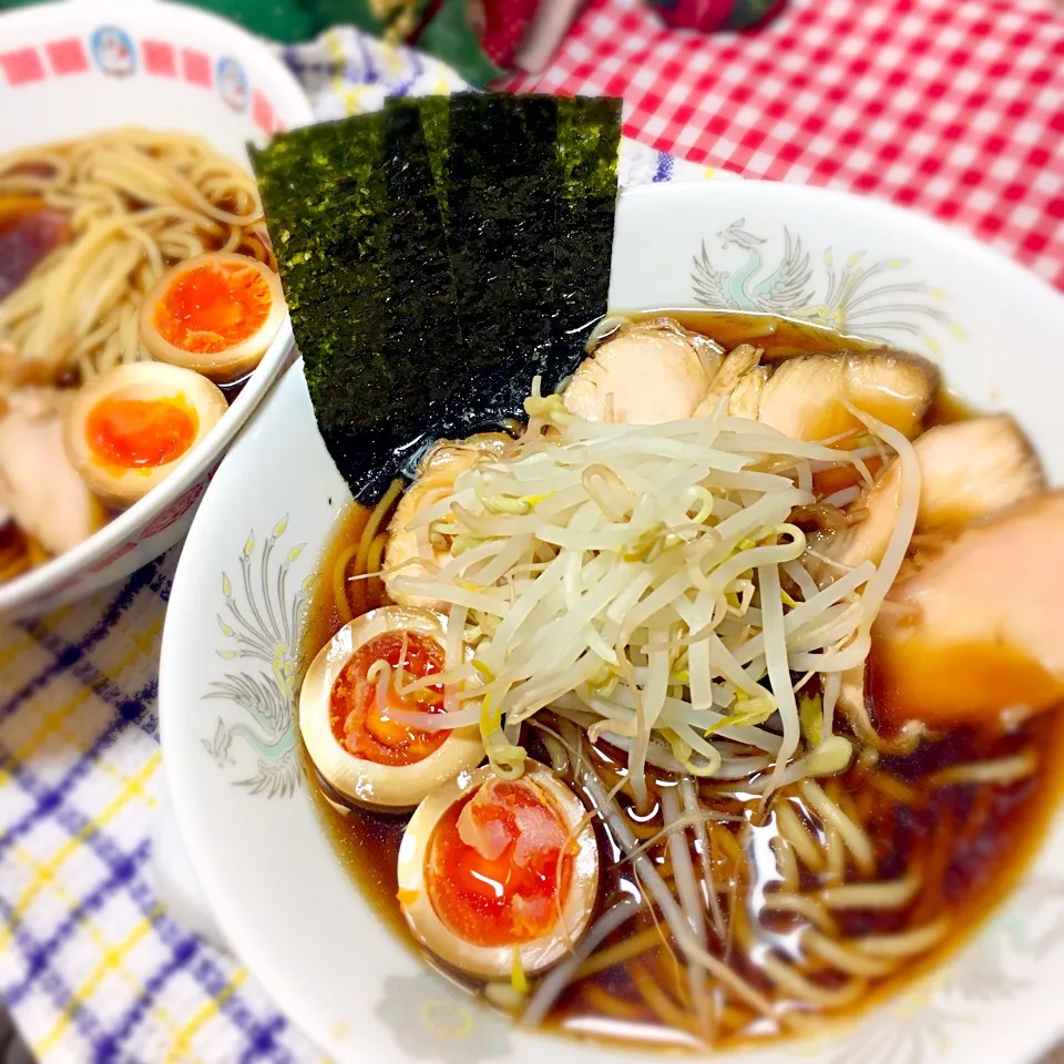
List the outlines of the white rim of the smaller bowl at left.
<svg viewBox="0 0 1064 1064">
<path fill-rule="evenodd" d="M 168 0 L 145 0 L 140 4 L 119 7 L 113 0 L 49 0 L 49 2 L 19 8 L 0 13 L 0 35 L 13 29 L 42 28 L 68 14 L 91 14 L 99 11 L 101 17 L 143 20 L 150 23 L 155 14 L 163 12 L 166 18 L 177 19 L 192 28 L 202 28 L 203 32 L 228 37 L 256 54 L 268 70 L 268 83 L 284 93 L 285 106 L 293 112 L 303 113 L 298 123 L 314 122 L 314 110 L 303 86 L 291 71 L 262 38 L 249 33 L 243 27 L 209 11 L 191 8 Z M 219 42 L 222 43 L 222 42 Z M 172 505 L 184 492 L 188 491 L 205 474 L 212 473 L 225 457 L 233 439 L 254 415 L 256 407 L 273 387 L 278 383 L 282 370 L 295 350 L 291 335 L 291 319 L 288 313 L 280 329 L 274 337 L 262 361 L 247 379 L 239 395 L 226 410 L 218 423 L 188 453 L 187 458 L 157 488 L 149 492 L 127 510 L 122 511 L 102 529 L 99 529 L 76 546 L 64 551 L 23 573 L 14 580 L 0 583 L 0 615 L 17 614 L 32 610 L 37 602 L 47 608 L 47 598 L 53 592 L 64 587 L 80 574 L 86 574 L 95 563 L 108 557 L 126 541 L 144 542 L 141 526 L 146 528 L 151 520 Z M 162 552 L 160 552 L 162 553 Z M 122 579 L 116 575 L 114 580 Z M 86 589 L 88 593 L 91 589 Z"/>
</svg>

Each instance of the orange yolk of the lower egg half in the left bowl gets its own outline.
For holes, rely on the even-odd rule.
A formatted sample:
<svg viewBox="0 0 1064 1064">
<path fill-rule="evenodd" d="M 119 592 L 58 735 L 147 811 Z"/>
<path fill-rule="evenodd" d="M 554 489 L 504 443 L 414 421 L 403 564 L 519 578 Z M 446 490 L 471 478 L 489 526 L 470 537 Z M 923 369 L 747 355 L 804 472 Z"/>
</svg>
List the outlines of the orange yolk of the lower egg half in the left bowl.
<svg viewBox="0 0 1064 1064">
<path fill-rule="evenodd" d="M 89 411 L 85 438 L 109 466 L 154 469 L 181 458 L 195 441 L 198 427 L 200 418 L 184 396 L 108 396 Z"/>
</svg>

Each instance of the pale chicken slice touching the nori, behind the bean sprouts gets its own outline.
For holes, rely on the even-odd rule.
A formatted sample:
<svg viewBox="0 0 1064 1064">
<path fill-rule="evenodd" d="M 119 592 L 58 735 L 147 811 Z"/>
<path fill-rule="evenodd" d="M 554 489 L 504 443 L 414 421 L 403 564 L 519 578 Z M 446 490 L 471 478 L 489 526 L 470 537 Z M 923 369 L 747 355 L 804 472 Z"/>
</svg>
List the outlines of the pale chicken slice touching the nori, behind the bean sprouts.
<svg viewBox="0 0 1064 1064">
<path fill-rule="evenodd" d="M 689 418 L 723 360 L 717 344 L 672 318 L 623 325 L 580 364 L 565 406 L 589 421 L 658 424 Z"/>
</svg>

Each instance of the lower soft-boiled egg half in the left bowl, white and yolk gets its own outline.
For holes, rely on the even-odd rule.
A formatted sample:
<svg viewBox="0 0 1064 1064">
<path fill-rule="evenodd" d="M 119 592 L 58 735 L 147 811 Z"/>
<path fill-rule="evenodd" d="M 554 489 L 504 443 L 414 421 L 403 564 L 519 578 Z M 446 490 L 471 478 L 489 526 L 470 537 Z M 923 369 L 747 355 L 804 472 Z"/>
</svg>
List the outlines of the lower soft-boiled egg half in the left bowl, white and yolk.
<svg viewBox="0 0 1064 1064">
<path fill-rule="evenodd" d="M 162 483 L 227 409 L 217 386 L 191 369 L 131 362 L 78 391 L 63 442 L 89 488 L 123 509 Z"/>
</svg>

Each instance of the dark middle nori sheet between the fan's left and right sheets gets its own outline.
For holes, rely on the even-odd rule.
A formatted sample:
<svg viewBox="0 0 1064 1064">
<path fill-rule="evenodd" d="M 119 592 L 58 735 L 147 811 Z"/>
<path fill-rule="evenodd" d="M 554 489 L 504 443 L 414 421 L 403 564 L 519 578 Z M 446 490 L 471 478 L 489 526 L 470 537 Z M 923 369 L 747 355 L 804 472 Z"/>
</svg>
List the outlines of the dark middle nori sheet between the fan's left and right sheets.
<svg viewBox="0 0 1064 1064">
<path fill-rule="evenodd" d="M 469 389 L 447 432 L 521 415 L 550 355 L 556 135 L 554 98 L 451 98 L 449 246 Z"/>
</svg>

